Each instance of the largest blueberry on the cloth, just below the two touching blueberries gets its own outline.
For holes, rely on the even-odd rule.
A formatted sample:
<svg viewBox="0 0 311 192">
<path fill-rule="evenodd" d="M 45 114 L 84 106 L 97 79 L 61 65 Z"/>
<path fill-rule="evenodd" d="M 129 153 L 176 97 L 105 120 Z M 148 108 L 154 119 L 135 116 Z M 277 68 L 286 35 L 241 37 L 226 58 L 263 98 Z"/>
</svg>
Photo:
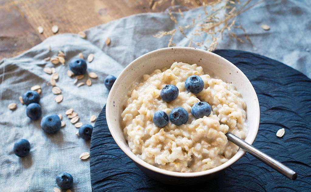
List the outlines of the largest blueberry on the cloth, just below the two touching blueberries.
<svg viewBox="0 0 311 192">
<path fill-rule="evenodd" d="M 56 114 L 46 115 L 41 119 L 40 126 L 46 133 L 56 133 L 60 130 L 61 121 Z"/>
</svg>

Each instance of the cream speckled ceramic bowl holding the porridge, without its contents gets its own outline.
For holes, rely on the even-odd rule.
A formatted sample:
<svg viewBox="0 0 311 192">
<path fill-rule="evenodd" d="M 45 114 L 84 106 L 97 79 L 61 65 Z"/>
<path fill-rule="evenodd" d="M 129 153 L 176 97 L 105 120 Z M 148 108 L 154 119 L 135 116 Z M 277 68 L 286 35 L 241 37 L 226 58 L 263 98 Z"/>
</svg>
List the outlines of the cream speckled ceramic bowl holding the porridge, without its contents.
<svg viewBox="0 0 311 192">
<path fill-rule="evenodd" d="M 106 104 L 106 118 L 109 130 L 115 142 L 132 161 L 151 178 L 171 185 L 189 185 L 211 179 L 221 171 L 239 160 L 245 151 L 238 152 L 224 164 L 200 172 L 180 173 L 154 167 L 131 152 L 121 126 L 123 106 L 126 104 L 124 96 L 133 82 L 141 81 L 142 75 L 151 74 L 156 69 L 170 67 L 174 62 L 196 63 L 203 67 L 206 74 L 217 77 L 225 82 L 232 82 L 242 94 L 247 109 L 246 116 L 249 124 L 248 135 L 245 139 L 253 144 L 259 126 L 259 103 L 256 92 L 242 71 L 231 62 L 215 53 L 202 49 L 188 47 L 162 48 L 151 51 L 131 62 L 118 76 L 110 90 Z"/>
</svg>

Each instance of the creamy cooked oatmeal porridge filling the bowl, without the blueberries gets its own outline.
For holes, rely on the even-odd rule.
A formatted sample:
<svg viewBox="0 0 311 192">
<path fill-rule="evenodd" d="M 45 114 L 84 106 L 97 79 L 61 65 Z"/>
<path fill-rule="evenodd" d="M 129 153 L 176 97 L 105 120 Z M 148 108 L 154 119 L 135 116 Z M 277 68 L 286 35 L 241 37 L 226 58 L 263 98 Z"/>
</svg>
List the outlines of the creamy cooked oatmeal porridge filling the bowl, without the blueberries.
<svg viewBox="0 0 311 192">
<path fill-rule="evenodd" d="M 192 75 L 204 82 L 202 91 L 196 94 L 185 88 L 186 79 Z M 179 90 L 178 96 L 169 102 L 160 97 L 166 85 Z M 210 114 L 201 118 L 191 112 L 200 102 L 198 98 L 211 108 Z M 125 99 L 122 123 L 130 149 L 137 157 L 161 169 L 197 172 L 217 167 L 239 149 L 227 140 L 225 133 L 230 131 L 242 139 L 247 135 L 246 104 L 241 94 L 234 85 L 205 74 L 197 64 L 175 62 L 169 69 L 143 75 L 142 82 L 135 83 Z M 155 125 L 153 116 L 157 111 L 165 112 L 170 119 L 176 107 L 185 110 L 186 123 L 176 125 L 168 120 L 163 127 Z"/>
</svg>

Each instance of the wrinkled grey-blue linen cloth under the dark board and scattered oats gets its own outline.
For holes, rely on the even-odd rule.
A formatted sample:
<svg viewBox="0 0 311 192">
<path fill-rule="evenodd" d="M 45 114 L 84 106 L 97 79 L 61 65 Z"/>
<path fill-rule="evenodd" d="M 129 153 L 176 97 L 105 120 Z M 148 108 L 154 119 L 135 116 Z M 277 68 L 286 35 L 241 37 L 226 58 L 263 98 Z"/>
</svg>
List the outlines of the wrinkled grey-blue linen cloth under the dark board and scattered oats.
<svg viewBox="0 0 311 192">
<path fill-rule="evenodd" d="M 252 40 L 239 43 L 224 35 L 218 49 L 240 49 L 262 54 L 281 61 L 311 77 L 311 9 L 310 1 L 266 1 L 237 17 Z M 188 25 L 202 8 L 184 12 L 184 16 L 174 13 L 179 25 Z M 270 30 L 261 28 L 262 24 Z M 92 115 L 98 116 L 106 102 L 109 91 L 104 87 L 104 78 L 115 75 L 135 58 L 155 49 L 167 46 L 169 36 L 162 39 L 153 37 L 158 31 L 177 28 L 167 13 L 144 13 L 118 19 L 110 23 L 86 30 L 86 39 L 77 34 L 51 36 L 25 53 L 5 58 L 0 62 L 0 189 L 1 191 L 52 191 L 57 187 L 55 177 L 66 171 L 72 174 L 72 191 L 91 191 L 89 161 L 82 161 L 79 155 L 89 152 L 90 143 L 79 138 L 77 128 L 70 123 L 65 111 L 73 108 L 80 122 L 90 123 Z M 189 37 L 195 29 L 187 31 Z M 244 37 L 241 30 L 233 29 L 238 37 Z M 105 39 L 111 38 L 109 46 Z M 204 41 L 206 36 L 203 36 Z M 173 43 L 187 46 L 188 39 L 176 32 Z M 48 50 L 48 47 L 51 50 Z M 44 61 L 56 56 L 58 50 L 65 53 L 65 65 L 53 65 Z M 83 53 L 86 58 L 94 54 L 88 63 L 88 72 L 95 72 L 98 78 L 91 79 L 92 85 L 77 87 L 74 78 L 67 76 L 69 61 Z M 44 67 L 55 67 L 59 74 L 56 85 L 62 90 L 63 101 L 56 103 L 47 82 L 50 75 Z M 78 82 L 86 82 L 84 77 Z M 42 89 L 40 105 L 42 114 L 62 114 L 66 126 L 54 135 L 45 134 L 40 128 L 40 120 L 32 121 L 26 116 L 26 106 L 18 97 L 33 85 Z M 9 103 L 17 103 L 14 111 L 7 108 Z M 91 123 L 94 125 L 94 123 Z M 12 151 L 17 139 L 28 139 L 30 155 L 18 158 Z"/>
</svg>

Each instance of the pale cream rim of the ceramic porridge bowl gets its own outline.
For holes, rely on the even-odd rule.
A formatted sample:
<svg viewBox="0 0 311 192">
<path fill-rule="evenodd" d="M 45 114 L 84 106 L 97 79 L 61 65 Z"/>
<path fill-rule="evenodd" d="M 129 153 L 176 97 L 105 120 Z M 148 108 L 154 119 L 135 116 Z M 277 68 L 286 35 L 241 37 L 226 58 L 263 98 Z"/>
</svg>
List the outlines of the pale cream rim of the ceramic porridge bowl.
<svg viewBox="0 0 311 192">
<path fill-rule="evenodd" d="M 196 51 L 199 51 L 199 52 L 202 52 L 202 53 L 205 53 L 205 54 L 210 54 L 212 55 L 213 57 L 218 57 L 220 60 L 223 60 L 225 62 L 229 62 L 234 68 L 236 71 L 239 71 L 239 74 L 244 76 L 247 80 L 248 78 L 246 77 L 246 75 L 238 68 L 236 67 L 235 65 L 233 65 L 230 61 L 226 60 L 225 58 L 215 54 L 215 53 L 212 53 L 212 52 L 209 52 L 209 51 L 206 51 L 206 50 L 203 50 L 203 49 L 198 49 L 198 48 L 191 48 L 191 47 L 167 47 L 167 48 L 160 48 L 160 49 L 156 49 L 154 51 L 151 51 L 149 53 L 146 53 L 140 57 L 138 57 L 137 59 L 135 59 L 134 61 L 132 61 L 130 64 L 128 64 L 128 66 L 126 66 L 123 71 L 120 73 L 120 75 L 118 76 L 117 80 L 114 82 L 114 85 L 112 86 L 112 88 L 110 89 L 110 92 L 113 92 L 114 89 L 117 89 L 116 85 L 119 84 L 118 81 L 120 81 L 120 79 L 122 78 L 122 76 L 128 71 L 127 69 L 129 69 L 132 64 L 134 62 L 136 62 L 137 60 L 140 60 L 142 57 L 148 57 L 149 55 L 152 55 L 156 52 L 160 52 L 160 51 L 166 51 L 166 50 L 171 50 L 171 49 L 190 49 L 190 50 L 196 50 Z M 142 74 L 143 75 L 143 74 Z M 259 109 L 259 102 L 258 102 L 258 97 L 257 97 L 257 94 L 255 92 L 255 89 L 253 88 L 253 85 L 251 84 L 251 82 L 248 80 L 248 83 L 251 85 L 251 88 L 255 94 L 255 99 L 256 99 L 256 107 L 258 108 L 258 114 L 257 114 L 257 122 L 255 123 L 256 127 L 255 127 L 255 130 L 254 130 L 254 135 L 253 137 L 249 138 L 248 141 L 249 141 L 249 144 L 253 144 L 256 136 L 257 136 L 257 133 L 258 133 L 258 128 L 259 128 L 259 118 L 260 118 L 260 109 Z M 132 161 L 134 163 L 137 163 L 139 164 L 140 166 L 142 167 L 145 167 L 146 169 L 149 169 L 151 171 L 154 171 L 154 172 L 157 172 L 157 173 L 160 173 L 160 174 L 164 174 L 164 175 L 168 175 L 168 176 L 174 176 L 174 177 L 198 177 L 198 176 L 205 176 L 205 175 L 209 175 L 209 174 L 212 174 L 212 173 L 216 173 L 218 171 L 221 171 L 227 167 L 229 167 L 230 165 L 232 165 L 233 163 L 235 163 L 236 161 L 238 161 L 246 152 L 243 150 L 243 149 L 239 149 L 238 152 L 232 157 L 230 158 L 227 162 L 221 164 L 220 166 L 217 166 L 217 167 L 214 167 L 212 169 L 208 169 L 206 171 L 198 171 L 198 172 L 190 172 L 190 173 L 182 173 L 182 172 L 175 172 L 175 171 L 168 171 L 168 170 L 164 170 L 164 169 L 161 169 L 161 168 L 158 168 L 158 167 L 155 167 L 145 161 L 143 161 L 141 158 L 137 157 L 134 153 L 132 153 L 132 151 L 130 151 L 128 148 L 124 147 L 123 146 L 123 142 L 121 142 L 121 140 L 117 139 L 116 135 L 114 134 L 114 131 L 112 131 L 109 127 L 109 124 L 110 124 L 110 119 L 114 119 L 114 117 L 111 117 L 109 118 L 109 112 L 108 112 L 108 109 L 110 108 L 110 105 L 113 105 L 113 102 L 112 102 L 112 99 L 113 97 L 111 96 L 112 94 L 109 94 L 108 95 L 108 98 L 107 98 L 107 103 L 106 103 L 106 120 L 107 120 L 107 125 L 108 125 L 108 128 L 109 128 L 109 131 L 112 135 L 112 137 L 114 138 L 114 141 L 118 144 L 118 146 L 120 147 L 120 149 L 130 158 L 132 159 Z"/>
</svg>

